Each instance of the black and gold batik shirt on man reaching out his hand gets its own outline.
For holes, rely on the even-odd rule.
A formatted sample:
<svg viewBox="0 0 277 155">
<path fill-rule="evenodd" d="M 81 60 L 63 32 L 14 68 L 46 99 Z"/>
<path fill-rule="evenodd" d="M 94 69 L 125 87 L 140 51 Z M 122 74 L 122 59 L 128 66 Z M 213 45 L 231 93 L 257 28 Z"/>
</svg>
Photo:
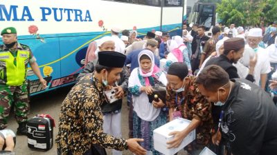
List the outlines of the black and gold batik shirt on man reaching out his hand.
<svg viewBox="0 0 277 155">
<path fill-rule="evenodd" d="M 88 74 L 75 85 L 62 103 L 57 134 L 57 149 L 62 154 L 84 154 L 91 144 L 105 148 L 127 149 L 127 140 L 105 134 L 100 104 L 104 87 L 96 76 Z"/>
</svg>

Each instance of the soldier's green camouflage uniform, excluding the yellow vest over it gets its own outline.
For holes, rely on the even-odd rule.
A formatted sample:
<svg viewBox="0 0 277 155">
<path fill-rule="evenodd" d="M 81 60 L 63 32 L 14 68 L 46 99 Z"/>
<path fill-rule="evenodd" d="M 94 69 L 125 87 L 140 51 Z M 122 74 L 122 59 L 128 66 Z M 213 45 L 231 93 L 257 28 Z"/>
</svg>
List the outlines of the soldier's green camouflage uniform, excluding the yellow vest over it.
<svg viewBox="0 0 277 155">
<path fill-rule="evenodd" d="M 27 71 L 28 63 L 34 63 L 36 61 L 27 45 L 17 43 L 17 49 L 15 50 L 9 50 L 5 45 L 0 46 L 0 54 L 1 52 L 10 52 L 15 58 L 17 56 L 17 50 L 29 52 L 29 57 L 24 62 Z M 14 64 L 17 65 L 16 59 Z M 22 81 L 21 85 L 7 85 L 7 74 L 5 74 L 5 70 L 6 63 L 0 57 L 0 130 L 7 126 L 7 118 L 10 114 L 12 103 L 15 103 L 15 118 L 18 123 L 26 122 L 29 112 L 26 72 L 25 81 Z"/>
</svg>

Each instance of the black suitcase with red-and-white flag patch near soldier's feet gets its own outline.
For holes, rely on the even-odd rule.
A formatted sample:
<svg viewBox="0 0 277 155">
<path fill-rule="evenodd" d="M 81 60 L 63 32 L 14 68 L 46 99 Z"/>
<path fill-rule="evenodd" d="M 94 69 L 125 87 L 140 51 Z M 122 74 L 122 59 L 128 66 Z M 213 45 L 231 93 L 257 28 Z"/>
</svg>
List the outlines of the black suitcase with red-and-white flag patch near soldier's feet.
<svg viewBox="0 0 277 155">
<path fill-rule="evenodd" d="M 53 147 L 54 119 L 49 115 L 40 114 L 27 121 L 28 147 L 47 151 Z"/>
</svg>

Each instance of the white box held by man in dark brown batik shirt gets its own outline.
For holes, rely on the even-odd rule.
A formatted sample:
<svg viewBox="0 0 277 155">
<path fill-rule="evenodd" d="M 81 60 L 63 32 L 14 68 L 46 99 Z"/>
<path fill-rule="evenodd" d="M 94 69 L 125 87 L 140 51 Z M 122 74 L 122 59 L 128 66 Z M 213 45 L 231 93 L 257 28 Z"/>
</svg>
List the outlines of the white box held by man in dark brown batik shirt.
<svg viewBox="0 0 277 155">
<path fill-rule="evenodd" d="M 170 132 L 182 131 L 188 127 L 191 121 L 184 118 L 176 118 L 161 127 L 158 127 L 154 130 L 154 149 L 158 152 L 161 152 L 165 155 L 172 155 L 179 152 L 179 150 L 183 149 L 186 145 L 195 140 L 195 130 L 190 132 L 186 138 L 183 139 L 179 147 L 168 149 L 168 145 L 166 144 L 168 141 L 172 140 L 173 136 L 168 136 Z"/>
</svg>

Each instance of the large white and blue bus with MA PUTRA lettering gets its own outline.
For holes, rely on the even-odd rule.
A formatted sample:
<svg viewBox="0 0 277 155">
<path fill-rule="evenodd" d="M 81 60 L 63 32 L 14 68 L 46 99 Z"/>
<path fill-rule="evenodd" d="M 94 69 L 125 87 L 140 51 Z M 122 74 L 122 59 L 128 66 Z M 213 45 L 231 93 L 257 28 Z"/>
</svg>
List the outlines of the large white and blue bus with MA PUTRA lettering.
<svg viewBox="0 0 277 155">
<path fill-rule="evenodd" d="M 186 0 L 5 0 L 0 30 L 17 29 L 19 43 L 37 59 L 47 87 L 28 68 L 30 96 L 72 85 L 84 68 L 89 43 L 110 35 L 113 27 L 181 34 Z M 0 44 L 3 41 L 0 39 Z"/>
</svg>

